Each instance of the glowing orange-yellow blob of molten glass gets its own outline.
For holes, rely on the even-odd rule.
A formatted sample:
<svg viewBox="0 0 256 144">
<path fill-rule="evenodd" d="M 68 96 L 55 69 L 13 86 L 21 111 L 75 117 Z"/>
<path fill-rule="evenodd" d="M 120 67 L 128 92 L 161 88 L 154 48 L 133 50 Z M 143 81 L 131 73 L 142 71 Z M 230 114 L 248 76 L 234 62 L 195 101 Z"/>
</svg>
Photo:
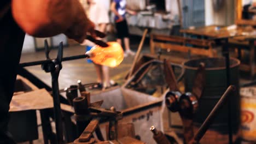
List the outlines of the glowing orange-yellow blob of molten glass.
<svg viewBox="0 0 256 144">
<path fill-rule="evenodd" d="M 96 64 L 111 68 L 117 67 L 124 59 L 123 48 L 117 42 L 108 42 L 107 44 L 108 47 L 95 45 L 85 54 L 89 55 L 90 59 Z"/>
</svg>

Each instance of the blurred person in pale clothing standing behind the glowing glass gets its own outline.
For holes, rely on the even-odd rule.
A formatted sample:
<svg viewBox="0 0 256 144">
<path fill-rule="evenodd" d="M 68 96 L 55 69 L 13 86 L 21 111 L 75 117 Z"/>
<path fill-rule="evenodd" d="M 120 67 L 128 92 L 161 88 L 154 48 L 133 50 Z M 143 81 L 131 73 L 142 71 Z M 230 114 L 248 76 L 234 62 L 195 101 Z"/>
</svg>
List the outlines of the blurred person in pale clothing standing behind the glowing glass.
<svg viewBox="0 0 256 144">
<path fill-rule="evenodd" d="M 107 24 L 109 23 L 109 16 L 108 16 L 108 9 L 104 7 L 104 4 L 101 2 L 102 0 L 88 0 L 88 17 L 89 19 L 94 22 L 95 28 L 98 31 L 105 32 Z M 86 51 L 91 50 L 94 43 L 91 41 L 86 40 L 85 44 Z M 89 59 L 89 63 L 92 61 Z M 95 64 L 96 74 L 97 74 L 97 82 L 98 85 L 95 85 L 91 88 L 102 88 L 103 90 L 109 88 L 113 85 L 117 85 L 114 81 L 110 80 L 109 78 L 109 68 L 104 65 Z"/>
</svg>

